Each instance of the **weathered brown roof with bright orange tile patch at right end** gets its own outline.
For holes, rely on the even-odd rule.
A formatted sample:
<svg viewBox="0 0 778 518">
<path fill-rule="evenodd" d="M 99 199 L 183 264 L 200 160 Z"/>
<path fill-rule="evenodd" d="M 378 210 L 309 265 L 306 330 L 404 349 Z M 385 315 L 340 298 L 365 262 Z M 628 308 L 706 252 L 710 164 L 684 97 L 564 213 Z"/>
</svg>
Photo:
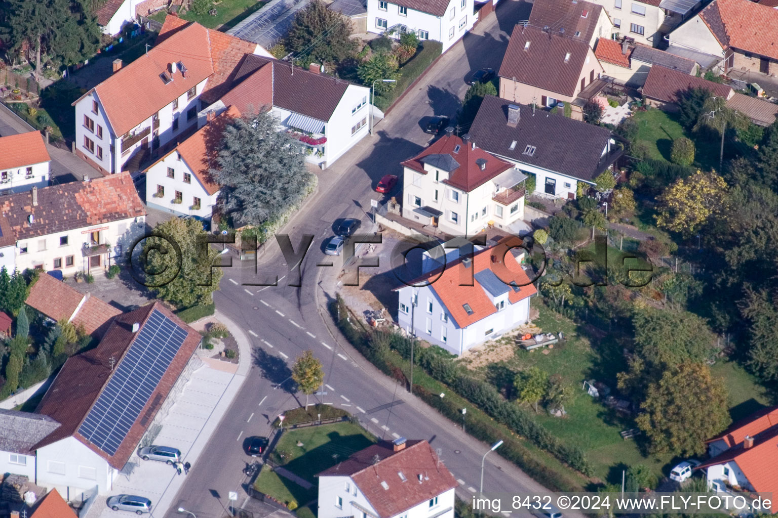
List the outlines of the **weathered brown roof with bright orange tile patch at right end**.
<svg viewBox="0 0 778 518">
<path fill-rule="evenodd" d="M 0 214 L 5 214 L 17 241 L 145 214 L 128 172 L 44 187 L 37 189 L 37 196 L 35 207 L 30 191 L 0 196 Z"/>
</svg>

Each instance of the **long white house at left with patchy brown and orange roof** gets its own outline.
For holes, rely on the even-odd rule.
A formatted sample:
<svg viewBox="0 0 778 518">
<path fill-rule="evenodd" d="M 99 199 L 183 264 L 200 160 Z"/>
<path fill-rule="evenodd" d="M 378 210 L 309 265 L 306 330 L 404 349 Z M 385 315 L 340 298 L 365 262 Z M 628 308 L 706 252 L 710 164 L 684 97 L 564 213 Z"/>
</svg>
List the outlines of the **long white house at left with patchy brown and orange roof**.
<svg viewBox="0 0 778 518">
<path fill-rule="evenodd" d="M 68 276 L 105 271 L 145 229 L 145 207 L 128 173 L 0 196 L 0 216 L 7 223 L 0 221 L 0 248 L 7 231 L 17 269 Z"/>
</svg>

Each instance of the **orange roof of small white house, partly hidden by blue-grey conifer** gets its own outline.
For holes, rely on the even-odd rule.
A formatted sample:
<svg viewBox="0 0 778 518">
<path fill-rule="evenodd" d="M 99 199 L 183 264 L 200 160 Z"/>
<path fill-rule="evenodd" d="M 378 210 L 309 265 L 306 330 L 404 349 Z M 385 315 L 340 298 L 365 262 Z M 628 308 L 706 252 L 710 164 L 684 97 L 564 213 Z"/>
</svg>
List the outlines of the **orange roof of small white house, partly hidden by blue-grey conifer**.
<svg viewBox="0 0 778 518">
<path fill-rule="evenodd" d="M 205 124 L 197 130 L 195 134 L 181 142 L 172 151 L 159 158 L 154 164 L 163 160 L 176 151 L 187 163 L 191 172 L 195 174 L 202 184 L 206 193 L 216 194 L 221 189 L 218 183 L 211 176 L 211 168 L 215 166 L 216 155 L 219 153 L 219 146 L 222 144 L 222 134 L 224 127 L 231 120 L 240 117 L 240 111 L 234 106 L 224 110 L 216 119 Z M 149 169 L 154 165 L 149 165 Z M 146 169 L 148 171 L 148 169 Z"/>
</svg>

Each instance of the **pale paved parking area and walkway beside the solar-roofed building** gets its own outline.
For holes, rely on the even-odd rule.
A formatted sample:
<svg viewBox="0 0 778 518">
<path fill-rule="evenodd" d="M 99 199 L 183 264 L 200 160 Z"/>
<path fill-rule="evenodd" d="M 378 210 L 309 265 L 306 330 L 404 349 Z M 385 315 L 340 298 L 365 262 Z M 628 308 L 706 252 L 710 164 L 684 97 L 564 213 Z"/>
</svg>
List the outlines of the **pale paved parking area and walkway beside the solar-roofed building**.
<svg viewBox="0 0 778 518">
<path fill-rule="evenodd" d="M 175 405 L 163 419 L 162 429 L 154 440 L 155 444 L 178 448 L 184 462 L 191 464 L 192 471 L 198 468 L 208 469 L 206 466 L 198 467 L 198 457 L 251 370 L 251 345 L 246 335 L 219 311 L 216 311 L 215 316 L 230 329 L 238 344 L 240 360 L 237 369 L 216 368 L 219 366 L 204 360 L 202 367 L 195 370 L 184 391 L 177 396 Z M 114 481 L 112 491 L 100 495 L 85 518 L 116 518 L 117 514 L 107 507 L 106 500 L 110 495 L 119 494 L 140 495 L 151 499 L 152 513 L 149 516 L 162 518 L 170 506 L 179 501 L 178 492 L 185 479 L 186 475 L 178 475 L 173 467 L 167 464 L 142 461 L 133 455 L 125 466 L 124 473 Z"/>
</svg>

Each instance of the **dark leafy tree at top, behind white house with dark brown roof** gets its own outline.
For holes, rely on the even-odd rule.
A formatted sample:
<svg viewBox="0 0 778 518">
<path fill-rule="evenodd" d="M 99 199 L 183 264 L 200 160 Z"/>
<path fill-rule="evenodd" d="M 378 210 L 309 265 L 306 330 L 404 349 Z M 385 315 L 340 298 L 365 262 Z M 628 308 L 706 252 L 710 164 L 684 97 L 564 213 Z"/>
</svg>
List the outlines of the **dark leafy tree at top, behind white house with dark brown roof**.
<svg viewBox="0 0 778 518">
<path fill-rule="evenodd" d="M 307 56 L 309 62 L 337 63 L 356 50 L 356 41 L 351 39 L 351 26 L 338 12 L 314 0 L 296 14 L 284 47 Z"/>
</svg>

